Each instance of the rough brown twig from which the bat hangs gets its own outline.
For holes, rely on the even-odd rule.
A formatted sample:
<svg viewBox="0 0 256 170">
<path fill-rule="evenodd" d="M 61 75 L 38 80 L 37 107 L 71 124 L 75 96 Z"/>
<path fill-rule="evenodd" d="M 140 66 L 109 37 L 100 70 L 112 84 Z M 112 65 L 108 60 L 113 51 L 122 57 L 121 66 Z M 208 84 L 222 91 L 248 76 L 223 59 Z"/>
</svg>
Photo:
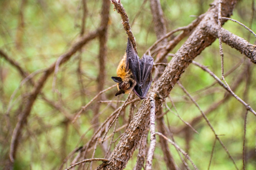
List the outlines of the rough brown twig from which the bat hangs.
<svg viewBox="0 0 256 170">
<path fill-rule="evenodd" d="M 130 39 L 132 46 L 135 50 L 135 52 L 138 54 L 137 47 L 136 47 L 136 42 L 135 42 L 135 37 L 132 34 L 131 26 L 129 24 L 129 18 L 127 16 L 127 13 L 125 12 L 124 6 L 121 4 L 120 0 L 111 0 L 112 4 L 114 4 L 117 13 L 120 13 L 122 17 L 122 24 L 124 26 L 124 30 L 128 35 L 128 38 Z"/>
</svg>

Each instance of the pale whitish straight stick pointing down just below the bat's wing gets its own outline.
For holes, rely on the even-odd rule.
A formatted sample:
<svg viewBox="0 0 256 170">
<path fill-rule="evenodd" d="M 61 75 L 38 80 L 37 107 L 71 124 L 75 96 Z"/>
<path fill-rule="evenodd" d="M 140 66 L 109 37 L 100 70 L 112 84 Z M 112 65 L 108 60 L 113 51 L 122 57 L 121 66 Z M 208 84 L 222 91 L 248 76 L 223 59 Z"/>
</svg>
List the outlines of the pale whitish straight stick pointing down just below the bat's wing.
<svg viewBox="0 0 256 170">
<path fill-rule="evenodd" d="M 146 160 L 146 169 L 152 169 L 153 155 L 155 151 L 156 137 L 155 137 L 155 99 L 154 93 L 150 93 L 150 146 L 148 148 L 148 155 Z"/>
</svg>

